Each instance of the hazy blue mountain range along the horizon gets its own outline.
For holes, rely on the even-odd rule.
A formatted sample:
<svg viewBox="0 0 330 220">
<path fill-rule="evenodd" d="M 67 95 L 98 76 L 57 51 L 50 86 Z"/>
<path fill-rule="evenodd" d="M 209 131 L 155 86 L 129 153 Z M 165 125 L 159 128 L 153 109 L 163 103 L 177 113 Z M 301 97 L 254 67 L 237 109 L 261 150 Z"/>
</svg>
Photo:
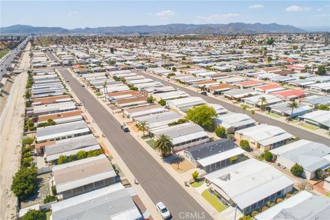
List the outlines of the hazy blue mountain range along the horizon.
<svg viewBox="0 0 330 220">
<path fill-rule="evenodd" d="M 261 33 L 301 33 L 305 30 L 292 25 L 277 23 L 228 23 L 228 24 L 183 24 L 135 25 L 100 28 L 33 27 L 12 25 L 1 28 L 3 34 L 261 34 Z"/>
</svg>

